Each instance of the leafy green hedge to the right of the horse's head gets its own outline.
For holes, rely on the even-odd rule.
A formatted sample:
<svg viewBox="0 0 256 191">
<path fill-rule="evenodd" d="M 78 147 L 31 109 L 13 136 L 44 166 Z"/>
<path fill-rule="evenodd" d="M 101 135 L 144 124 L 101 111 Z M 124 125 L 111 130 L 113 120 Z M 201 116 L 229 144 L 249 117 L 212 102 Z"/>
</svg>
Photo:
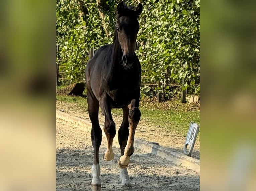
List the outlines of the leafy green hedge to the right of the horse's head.
<svg viewBox="0 0 256 191">
<path fill-rule="evenodd" d="M 141 57 L 147 83 L 160 80 L 169 93 L 168 84 L 189 87 L 200 92 L 200 1 L 144 1 L 139 42 L 146 42 Z M 167 6 L 168 5 L 168 6 Z M 166 92 L 167 91 L 167 92 Z"/>
</svg>

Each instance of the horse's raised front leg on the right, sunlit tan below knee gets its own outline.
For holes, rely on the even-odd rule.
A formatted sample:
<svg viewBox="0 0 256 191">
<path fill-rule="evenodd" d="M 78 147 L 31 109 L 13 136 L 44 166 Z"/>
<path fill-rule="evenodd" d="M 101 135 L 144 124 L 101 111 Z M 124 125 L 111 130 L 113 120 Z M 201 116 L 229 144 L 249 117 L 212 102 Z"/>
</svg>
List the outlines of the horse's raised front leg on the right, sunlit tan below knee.
<svg viewBox="0 0 256 191">
<path fill-rule="evenodd" d="M 140 120 L 140 110 L 139 110 L 139 99 L 133 99 L 131 103 L 128 105 L 129 107 L 129 137 L 127 141 L 127 145 L 124 149 L 124 155 L 122 155 L 118 161 L 119 168 L 125 168 L 128 166 L 130 162 L 130 156 L 133 154 L 133 142 L 134 142 L 134 135 L 137 124 Z"/>
</svg>

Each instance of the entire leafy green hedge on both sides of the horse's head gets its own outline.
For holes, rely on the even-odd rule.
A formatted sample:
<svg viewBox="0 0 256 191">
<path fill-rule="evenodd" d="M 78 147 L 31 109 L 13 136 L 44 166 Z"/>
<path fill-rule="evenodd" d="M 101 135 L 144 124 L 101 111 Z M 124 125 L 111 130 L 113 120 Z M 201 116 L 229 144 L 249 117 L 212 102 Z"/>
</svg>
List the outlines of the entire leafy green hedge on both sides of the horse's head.
<svg viewBox="0 0 256 191">
<path fill-rule="evenodd" d="M 104 1 L 104 22 L 110 31 L 107 37 L 102 27 L 96 1 L 83 0 L 87 14 L 81 14 L 81 1 L 58 0 L 56 3 L 56 62 L 63 76 L 78 81 L 84 78 L 89 60 L 89 48 L 95 49 L 113 41 L 115 7 L 118 0 Z M 135 5 L 135 1 L 126 1 Z M 142 95 L 162 92 L 166 97 L 180 90 L 168 84 L 184 85 L 191 93 L 200 93 L 200 0 L 143 0 L 139 18 L 136 54 L 142 65 L 142 83 L 162 83 L 161 88 L 142 86 Z M 107 7 L 107 8 L 106 8 Z M 145 45 L 144 45 L 145 44 Z M 198 84 L 199 86 L 194 86 Z"/>
</svg>

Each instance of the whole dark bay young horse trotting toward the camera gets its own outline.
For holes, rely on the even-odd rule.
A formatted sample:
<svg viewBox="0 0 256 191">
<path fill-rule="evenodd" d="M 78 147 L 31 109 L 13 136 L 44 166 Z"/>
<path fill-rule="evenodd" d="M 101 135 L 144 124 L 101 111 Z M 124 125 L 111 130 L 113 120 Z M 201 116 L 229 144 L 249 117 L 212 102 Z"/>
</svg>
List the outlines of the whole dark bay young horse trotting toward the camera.
<svg viewBox="0 0 256 191">
<path fill-rule="evenodd" d="M 92 122 L 91 138 L 94 147 L 92 166 L 92 190 L 101 190 L 99 147 L 102 130 L 99 125 L 99 107 L 105 115 L 104 132 L 107 136 L 107 150 L 103 159 L 114 158 L 113 138 L 116 134 L 115 122 L 111 109 L 123 109 L 123 122 L 118 130 L 118 142 L 121 157 L 122 186 L 131 186 L 127 166 L 133 154 L 133 141 L 136 126 L 140 120 L 139 98 L 141 83 L 141 66 L 134 53 L 134 45 L 139 31 L 138 16 L 142 4 L 137 7 L 127 6 L 123 1 L 117 5 L 116 29 L 114 42 L 99 48 L 86 66 L 86 87 L 89 116 Z"/>
</svg>

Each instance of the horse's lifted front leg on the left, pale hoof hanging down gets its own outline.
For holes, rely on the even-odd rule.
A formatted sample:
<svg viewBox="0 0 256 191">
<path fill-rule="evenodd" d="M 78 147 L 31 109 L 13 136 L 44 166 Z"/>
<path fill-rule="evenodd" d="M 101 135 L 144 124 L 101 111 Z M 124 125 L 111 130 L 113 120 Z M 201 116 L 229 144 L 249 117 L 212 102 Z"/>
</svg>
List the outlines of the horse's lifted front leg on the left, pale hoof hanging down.
<svg viewBox="0 0 256 191">
<path fill-rule="evenodd" d="M 114 158 L 114 153 L 112 149 L 113 139 L 116 135 L 116 124 L 113 121 L 111 115 L 111 98 L 109 95 L 105 94 L 101 99 L 101 108 L 103 109 L 103 113 L 105 116 L 104 122 L 104 132 L 107 137 L 108 147 L 106 152 L 103 154 L 103 159 L 105 161 L 110 161 Z"/>
</svg>

